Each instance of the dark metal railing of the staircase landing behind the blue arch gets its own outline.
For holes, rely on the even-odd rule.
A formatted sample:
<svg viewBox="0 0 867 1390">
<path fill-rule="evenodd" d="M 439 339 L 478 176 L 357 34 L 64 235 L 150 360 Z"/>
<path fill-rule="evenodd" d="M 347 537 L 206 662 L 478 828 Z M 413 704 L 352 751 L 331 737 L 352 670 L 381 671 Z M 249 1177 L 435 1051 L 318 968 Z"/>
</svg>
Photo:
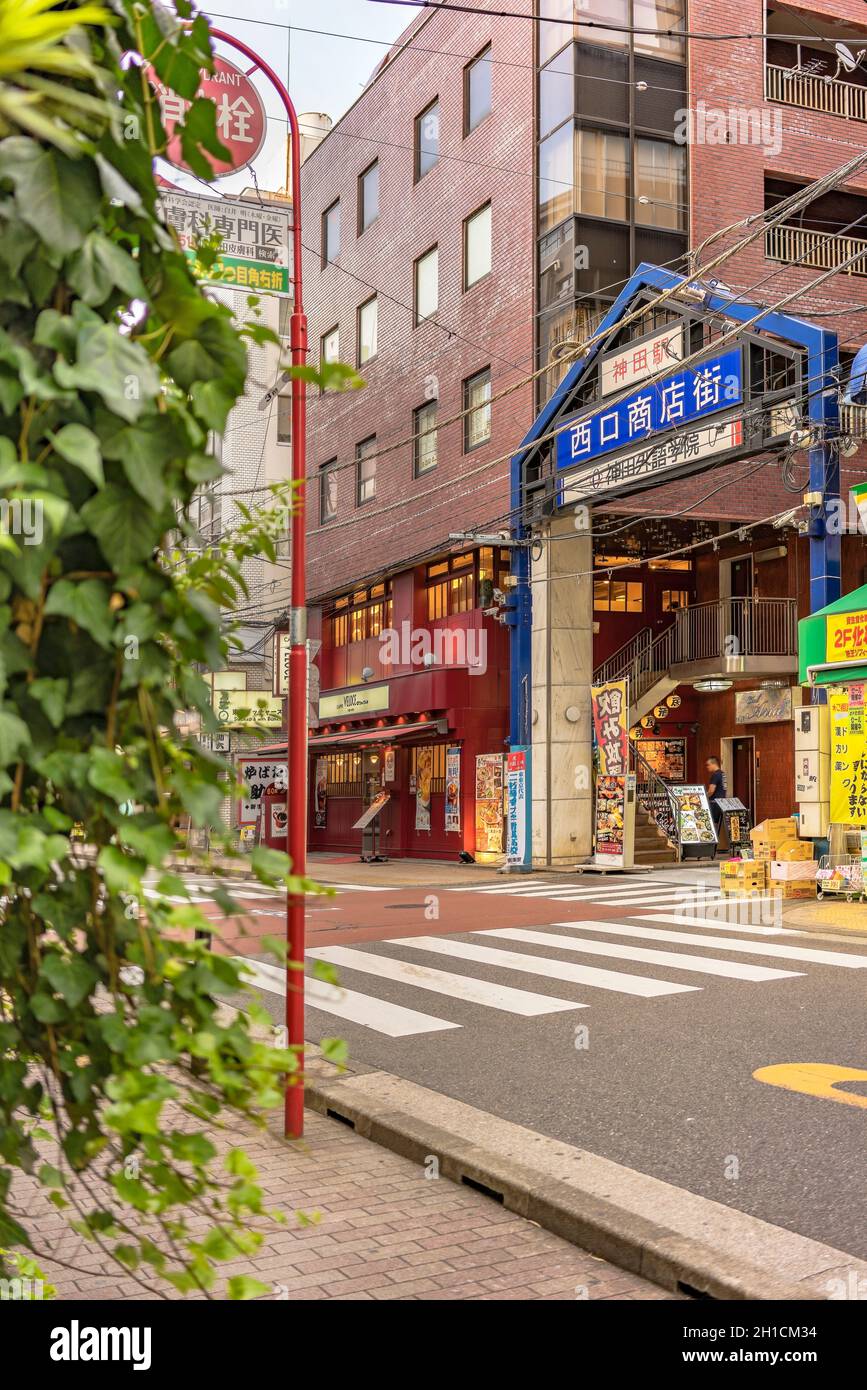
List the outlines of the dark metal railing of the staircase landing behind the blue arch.
<svg viewBox="0 0 867 1390">
<path fill-rule="evenodd" d="M 695 603 L 681 609 L 671 627 L 647 646 L 631 653 L 627 645 L 624 652 L 606 680 L 627 680 L 629 703 L 635 705 L 672 666 L 716 657 L 796 655 L 798 605 L 795 599 L 749 598 Z"/>
</svg>

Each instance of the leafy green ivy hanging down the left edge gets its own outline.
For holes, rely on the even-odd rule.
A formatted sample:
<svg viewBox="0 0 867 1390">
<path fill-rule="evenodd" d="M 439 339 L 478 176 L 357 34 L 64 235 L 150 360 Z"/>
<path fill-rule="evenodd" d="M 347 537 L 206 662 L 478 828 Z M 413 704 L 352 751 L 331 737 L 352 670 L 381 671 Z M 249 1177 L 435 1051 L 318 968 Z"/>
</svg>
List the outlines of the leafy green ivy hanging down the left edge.
<svg viewBox="0 0 867 1390">
<path fill-rule="evenodd" d="M 211 1293 L 267 1215 L 211 1131 L 261 1120 L 296 1058 L 221 1006 L 238 966 L 167 901 L 185 897 L 176 827 L 220 824 L 228 773 L 175 716 L 215 727 L 199 671 L 225 666 L 245 594 L 238 552 L 172 552 L 221 474 L 208 436 L 243 392 L 245 336 L 267 335 L 203 293 L 160 215 L 149 68 L 192 101 L 189 165 L 208 178 L 225 154 L 196 97 L 207 24 L 175 8 L 0 0 L 0 1275 L 7 1251 L 50 1254 L 24 1172 L 142 1283 Z M 238 545 L 268 553 L 286 500 Z M 314 887 L 272 851 L 253 869 Z"/>
</svg>

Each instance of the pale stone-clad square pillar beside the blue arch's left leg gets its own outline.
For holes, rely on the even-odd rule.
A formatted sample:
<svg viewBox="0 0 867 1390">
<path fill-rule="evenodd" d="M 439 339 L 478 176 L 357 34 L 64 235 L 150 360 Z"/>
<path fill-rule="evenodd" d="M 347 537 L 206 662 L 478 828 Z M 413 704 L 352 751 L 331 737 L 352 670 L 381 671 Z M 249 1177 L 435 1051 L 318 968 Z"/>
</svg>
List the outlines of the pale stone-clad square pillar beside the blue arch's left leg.
<svg viewBox="0 0 867 1390">
<path fill-rule="evenodd" d="M 592 567 L 589 528 L 577 531 L 571 512 L 554 517 L 531 566 L 532 853 L 539 867 L 567 867 L 592 852 Z"/>
</svg>

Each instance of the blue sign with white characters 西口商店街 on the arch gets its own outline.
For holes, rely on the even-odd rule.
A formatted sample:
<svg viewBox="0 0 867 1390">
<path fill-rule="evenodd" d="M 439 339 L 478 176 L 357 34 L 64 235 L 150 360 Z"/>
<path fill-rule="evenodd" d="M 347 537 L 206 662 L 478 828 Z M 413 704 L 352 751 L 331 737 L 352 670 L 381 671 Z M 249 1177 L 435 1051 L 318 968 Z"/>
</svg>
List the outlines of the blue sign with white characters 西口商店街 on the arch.
<svg viewBox="0 0 867 1390">
<path fill-rule="evenodd" d="M 557 467 L 574 468 L 588 459 L 624 449 L 661 430 L 677 430 L 741 400 L 743 363 L 741 349 L 734 348 L 567 424 L 557 435 Z"/>
</svg>

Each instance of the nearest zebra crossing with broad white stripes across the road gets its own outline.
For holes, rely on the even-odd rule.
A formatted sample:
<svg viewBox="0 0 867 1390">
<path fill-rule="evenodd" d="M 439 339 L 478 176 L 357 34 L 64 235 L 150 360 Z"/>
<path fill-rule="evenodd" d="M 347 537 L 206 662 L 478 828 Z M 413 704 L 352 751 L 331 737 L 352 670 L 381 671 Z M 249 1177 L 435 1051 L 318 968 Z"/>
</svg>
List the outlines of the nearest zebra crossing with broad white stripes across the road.
<svg viewBox="0 0 867 1390">
<path fill-rule="evenodd" d="M 538 1024 L 618 999 L 677 1005 L 704 990 L 798 988 L 816 969 L 867 970 L 867 951 L 818 945 L 804 933 L 693 920 L 657 909 L 641 920 L 575 919 L 317 947 L 307 951 L 310 965 L 333 967 L 339 983 L 311 977 L 307 1006 L 311 1016 L 406 1038 L 472 1027 L 497 1013 Z M 245 969 L 257 988 L 285 991 L 281 967 L 247 959 Z"/>
</svg>

